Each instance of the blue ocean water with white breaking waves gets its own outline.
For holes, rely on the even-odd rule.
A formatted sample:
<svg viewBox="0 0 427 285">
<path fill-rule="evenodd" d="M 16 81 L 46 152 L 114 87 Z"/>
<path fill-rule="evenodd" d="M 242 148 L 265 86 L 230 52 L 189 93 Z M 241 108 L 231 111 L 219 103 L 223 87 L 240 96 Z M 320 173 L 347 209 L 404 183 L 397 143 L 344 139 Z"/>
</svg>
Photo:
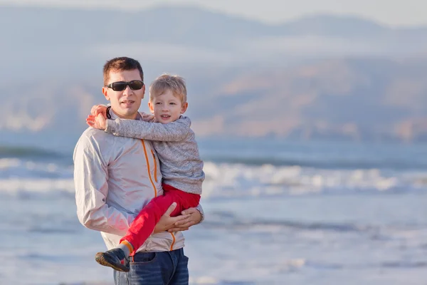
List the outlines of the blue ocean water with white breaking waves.
<svg viewBox="0 0 427 285">
<path fill-rule="evenodd" d="M 191 284 L 427 284 L 427 146 L 201 140 Z M 0 284 L 112 284 L 72 150 L 0 147 Z"/>
</svg>

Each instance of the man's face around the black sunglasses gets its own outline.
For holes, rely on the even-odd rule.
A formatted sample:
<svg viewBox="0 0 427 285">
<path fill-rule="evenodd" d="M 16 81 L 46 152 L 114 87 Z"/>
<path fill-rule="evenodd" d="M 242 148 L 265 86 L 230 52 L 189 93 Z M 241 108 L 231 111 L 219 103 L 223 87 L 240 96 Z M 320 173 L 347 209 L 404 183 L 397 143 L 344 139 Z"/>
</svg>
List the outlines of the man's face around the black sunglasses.
<svg viewBox="0 0 427 285">
<path fill-rule="evenodd" d="M 132 71 L 110 71 L 107 85 L 118 81 L 140 81 L 142 80 L 137 69 Z M 135 119 L 137 117 L 141 100 L 144 98 L 145 85 L 139 90 L 132 90 L 126 86 L 125 90 L 115 91 L 112 88 L 102 87 L 102 93 L 110 101 L 112 111 L 123 119 Z"/>
</svg>

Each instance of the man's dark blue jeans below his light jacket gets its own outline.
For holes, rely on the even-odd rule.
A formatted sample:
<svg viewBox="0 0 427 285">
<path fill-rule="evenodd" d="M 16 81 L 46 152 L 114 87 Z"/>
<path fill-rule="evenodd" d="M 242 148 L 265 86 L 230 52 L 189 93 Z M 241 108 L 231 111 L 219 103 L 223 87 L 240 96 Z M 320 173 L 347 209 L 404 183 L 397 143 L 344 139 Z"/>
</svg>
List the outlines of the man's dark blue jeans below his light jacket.
<svg viewBox="0 0 427 285">
<path fill-rule="evenodd" d="M 116 285 L 187 285 L 189 258 L 184 249 L 138 252 L 130 257 L 130 271 L 114 271 Z"/>
</svg>

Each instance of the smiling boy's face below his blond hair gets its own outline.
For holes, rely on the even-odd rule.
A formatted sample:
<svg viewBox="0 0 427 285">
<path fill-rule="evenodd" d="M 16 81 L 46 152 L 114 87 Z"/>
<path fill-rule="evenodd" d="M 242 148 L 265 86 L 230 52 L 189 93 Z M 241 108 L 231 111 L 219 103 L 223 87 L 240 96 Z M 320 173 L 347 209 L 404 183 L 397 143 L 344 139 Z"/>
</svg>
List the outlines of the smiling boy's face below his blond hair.
<svg viewBox="0 0 427 285">
<path fill-rule="evenodd" d="M 179 119 L 184 114 L 188 103 L 181 103 L 181 98 L 175 96 L 172 90 L 157 95 L 148 103 L 149 110 L 154 114 L 157 122 L 167 124 Z"/>
</svg>

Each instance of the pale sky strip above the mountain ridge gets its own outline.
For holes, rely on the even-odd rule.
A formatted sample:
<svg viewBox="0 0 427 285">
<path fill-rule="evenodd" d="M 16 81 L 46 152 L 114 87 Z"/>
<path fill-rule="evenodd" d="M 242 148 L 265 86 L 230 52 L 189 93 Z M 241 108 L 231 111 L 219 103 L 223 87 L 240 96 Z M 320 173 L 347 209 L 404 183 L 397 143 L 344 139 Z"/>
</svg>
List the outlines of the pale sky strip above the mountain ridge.
<svg viewBox="0 0 427 285">
<path fill-rule="evenodd" d="M 426 0 L 0 0 L 0 4 L 130 10 L 191 4 L 270 24 L 321 13 L 362 16 L 388 26 L 427 25 Z"/>
</svg>

